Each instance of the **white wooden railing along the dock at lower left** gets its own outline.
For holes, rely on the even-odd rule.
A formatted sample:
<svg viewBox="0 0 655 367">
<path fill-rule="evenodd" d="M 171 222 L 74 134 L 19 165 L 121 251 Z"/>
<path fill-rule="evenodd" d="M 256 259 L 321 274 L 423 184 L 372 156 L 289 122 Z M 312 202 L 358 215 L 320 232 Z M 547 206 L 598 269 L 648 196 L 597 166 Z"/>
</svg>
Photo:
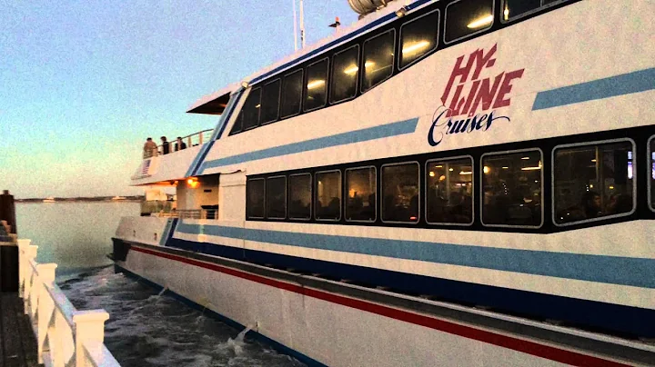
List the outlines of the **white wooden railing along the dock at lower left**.
<svg viewBox="0 0 655 367">
<path fill-rule="evenodd" d="M 38 246 L 18 240 L 18 293 L 45 366 L 120 367 L 105 346 L 105 310 L 77 311 L 55 283 L 56 263 L 36 263 Z"/>
</svg>

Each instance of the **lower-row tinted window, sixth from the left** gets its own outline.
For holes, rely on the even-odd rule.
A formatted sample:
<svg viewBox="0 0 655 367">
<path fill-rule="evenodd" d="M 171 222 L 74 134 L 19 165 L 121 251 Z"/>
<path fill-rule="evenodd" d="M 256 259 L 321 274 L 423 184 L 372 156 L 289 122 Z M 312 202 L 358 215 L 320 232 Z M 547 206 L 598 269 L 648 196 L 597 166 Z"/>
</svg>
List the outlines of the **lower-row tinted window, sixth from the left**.
<svg viewBox="0 0 655 367">
<path fill-rule="evenodd" d="M 382 167 L 382 221 L 418 222 L 418 163 Z"/>
</svg>

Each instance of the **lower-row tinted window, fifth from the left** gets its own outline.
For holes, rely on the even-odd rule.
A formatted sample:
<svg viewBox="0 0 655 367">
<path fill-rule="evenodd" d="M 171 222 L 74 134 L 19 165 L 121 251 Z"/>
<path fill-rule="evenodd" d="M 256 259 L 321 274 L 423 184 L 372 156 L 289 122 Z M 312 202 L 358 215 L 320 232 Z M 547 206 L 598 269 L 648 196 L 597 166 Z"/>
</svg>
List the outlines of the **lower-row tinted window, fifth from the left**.
<svg viewBox="0 0 655 367">
<path fill-rule="evenodd" d="M 377 184 L 374 167 L 346 171 L 347 221 L 375 221 Z"/>
</svg>

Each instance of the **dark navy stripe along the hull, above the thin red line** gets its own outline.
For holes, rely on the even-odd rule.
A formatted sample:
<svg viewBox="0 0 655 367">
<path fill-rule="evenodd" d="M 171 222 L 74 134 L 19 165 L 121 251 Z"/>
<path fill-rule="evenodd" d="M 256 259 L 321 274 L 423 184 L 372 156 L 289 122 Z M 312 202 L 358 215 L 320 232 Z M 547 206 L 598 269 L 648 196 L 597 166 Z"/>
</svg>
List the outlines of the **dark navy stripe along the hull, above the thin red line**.
<svg viewBox="0 0 655 367">
<path fill-rule="evenodd" d="M 565 320 L 604 332 L 655 337 L 655 311 L 612 303 L 600 303 L 544 293 L 532 293 L 477 283 L 398 273 L 344 263 L 246 250 L 214 243 L 196 243 L 172 238 L 168 246 L 194 253 L 272 264 L 301 272 L 321 273 L 335 279 L 349 279 L 370 286 L 385 286 L 404 293 L 430 294 L 454 303 L 485 305 L 499 312 L 540 320 Z"/>
</svg>

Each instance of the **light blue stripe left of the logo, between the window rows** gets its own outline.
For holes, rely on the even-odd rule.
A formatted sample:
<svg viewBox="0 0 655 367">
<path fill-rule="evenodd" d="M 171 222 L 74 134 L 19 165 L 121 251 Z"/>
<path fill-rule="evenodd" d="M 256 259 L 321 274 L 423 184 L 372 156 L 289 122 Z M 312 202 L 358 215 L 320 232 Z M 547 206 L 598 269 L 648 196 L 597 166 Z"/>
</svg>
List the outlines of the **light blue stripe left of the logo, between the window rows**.
<svg viewBox="0 0 655 367">
<path fill-rule="evenodd" d="M 392 124 L 383 124 L 380 126 L 368 127 L 366 129 L 356 130 L 348 133 L 325 136 L 317 139 L 311 139 L 304 142 L 298 142 L 287 145 L 275 146 L 268 149 L 237 154 L 225 158 L 208 161 L 203 164 L 200 174 L 208 168 L 216 168 L 229 164 L 242 164 L 259 159 L 266 159 L 287 154 L 296 154 L 309 152 L 317 149 L 329 148 L 332 146 L 368 142 L 370 140 L 381 139 L 389 136 L 414 133 L 418 124 L 418 117 L 399 121 Z"/>
</svg>

